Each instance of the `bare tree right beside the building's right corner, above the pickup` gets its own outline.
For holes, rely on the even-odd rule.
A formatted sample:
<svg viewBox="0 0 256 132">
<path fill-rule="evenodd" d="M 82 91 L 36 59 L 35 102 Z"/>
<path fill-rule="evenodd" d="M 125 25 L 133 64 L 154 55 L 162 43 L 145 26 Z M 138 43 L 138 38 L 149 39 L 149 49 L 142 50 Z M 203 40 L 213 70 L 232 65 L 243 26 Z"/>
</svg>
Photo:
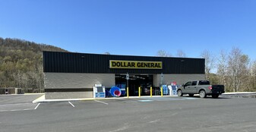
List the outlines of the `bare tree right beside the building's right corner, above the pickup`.
<svg viewBox="0 0 256 132">
<path fill-rule="evenodd" d="M 204 52 L 201 53 L 201 57 L 205 59 L 205 78 L 210 80 L 210 71 L 215 68 L 214 55 L 208 50 L 204 50 Z"/>
</svg>

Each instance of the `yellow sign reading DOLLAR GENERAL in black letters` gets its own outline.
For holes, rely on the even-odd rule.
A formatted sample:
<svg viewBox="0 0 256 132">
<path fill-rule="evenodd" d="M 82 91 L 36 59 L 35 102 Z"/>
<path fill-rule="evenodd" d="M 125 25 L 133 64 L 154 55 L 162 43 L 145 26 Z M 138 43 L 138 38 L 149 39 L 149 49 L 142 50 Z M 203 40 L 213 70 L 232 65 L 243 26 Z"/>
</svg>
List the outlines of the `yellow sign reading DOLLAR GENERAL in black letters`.
<svg viewBox="0 0 256 132">
<path fill-rule="evenodd" d="M 119 61 L 109 60 L 109 68 L 121 69 L 162 69 L 162 61 Z"/>
</svg>

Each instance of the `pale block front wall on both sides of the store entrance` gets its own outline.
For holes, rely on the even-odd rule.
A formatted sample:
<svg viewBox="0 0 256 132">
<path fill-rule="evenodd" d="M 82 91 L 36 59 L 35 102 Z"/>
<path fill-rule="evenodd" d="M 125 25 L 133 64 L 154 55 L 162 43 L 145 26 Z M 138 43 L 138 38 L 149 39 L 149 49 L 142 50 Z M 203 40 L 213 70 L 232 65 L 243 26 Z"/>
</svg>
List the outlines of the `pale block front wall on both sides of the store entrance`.
<svg viewBox="0 0 256 132">
<path fill-rule="evenodd" d="M 44 73 L 45 89 L 84 89 L 92 90 L 94 84 L 115 86 L 115 74 L 74 74 Z M 176 81 L 181 85 L 189 80 L 205 80 L 204 74 L 163 74 L 163 84 Z M 160 86 L 161 74 L 153 74 L 153 86 Z M 46 92 L 46 99 L 77 99 L 93 98 L 93 92 Z"/>
</svg>

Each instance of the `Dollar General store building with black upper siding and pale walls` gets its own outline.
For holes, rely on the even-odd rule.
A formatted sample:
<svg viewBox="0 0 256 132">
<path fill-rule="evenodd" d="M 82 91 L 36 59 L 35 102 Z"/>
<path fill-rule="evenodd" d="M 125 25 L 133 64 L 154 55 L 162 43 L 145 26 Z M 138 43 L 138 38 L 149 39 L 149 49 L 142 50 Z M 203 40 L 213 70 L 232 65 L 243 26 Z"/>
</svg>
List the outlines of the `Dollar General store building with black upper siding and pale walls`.
<svg viewBox="0 0 256 132">
<path fill-rule="evenodd" d="M 175 81 L 204 80 L 204 58 L 169 58 L 132 55 L 98 55 L 43 52 L 46 99 L 92 98 L 93 86 L 126 87 L 137 96 L 138 86 L 147 89 Z"/>
</svg>

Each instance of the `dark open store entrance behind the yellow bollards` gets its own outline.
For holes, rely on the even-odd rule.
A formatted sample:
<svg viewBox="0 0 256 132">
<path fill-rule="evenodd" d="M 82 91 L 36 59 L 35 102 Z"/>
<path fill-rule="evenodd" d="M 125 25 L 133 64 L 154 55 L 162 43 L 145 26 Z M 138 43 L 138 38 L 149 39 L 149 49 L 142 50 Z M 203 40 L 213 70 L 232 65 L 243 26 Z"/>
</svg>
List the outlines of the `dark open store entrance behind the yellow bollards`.
<svg viewBox="0 0 256 132">
<path fill-rule="evenodd" d="M 115 74 L 115 86 L 121 89 L 127 87 L 125 74 Z M 128 80 L 129 96 L 138 96 L 139 87 L 141 87 L 141 96 L 150 96 L 150 86 L 153 86 L 153 75 L 150 74 L 130 74 Z M 126 92 L 127 93 L 127 92 Z M 127 96 L 125 95 L 123 96 Z"/>
</svg>

